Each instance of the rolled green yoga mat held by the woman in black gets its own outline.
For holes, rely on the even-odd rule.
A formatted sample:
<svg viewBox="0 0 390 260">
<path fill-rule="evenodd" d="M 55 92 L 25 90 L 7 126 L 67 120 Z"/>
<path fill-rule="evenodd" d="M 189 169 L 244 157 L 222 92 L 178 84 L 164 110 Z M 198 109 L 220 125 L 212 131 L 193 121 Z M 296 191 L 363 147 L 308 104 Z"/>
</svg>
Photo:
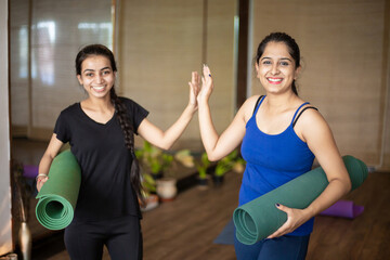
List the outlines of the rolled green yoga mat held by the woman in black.
<svg viewBox="0 0 390 260">
<path fill-rule="evenodd" d="M 58 154 L 49 170 L 49 180 L 37 195 L 38 221 L 49 230 L 65 229 L 73 220 L 81 183 L 81 170 L 70 151 Z"/>
</svg>

